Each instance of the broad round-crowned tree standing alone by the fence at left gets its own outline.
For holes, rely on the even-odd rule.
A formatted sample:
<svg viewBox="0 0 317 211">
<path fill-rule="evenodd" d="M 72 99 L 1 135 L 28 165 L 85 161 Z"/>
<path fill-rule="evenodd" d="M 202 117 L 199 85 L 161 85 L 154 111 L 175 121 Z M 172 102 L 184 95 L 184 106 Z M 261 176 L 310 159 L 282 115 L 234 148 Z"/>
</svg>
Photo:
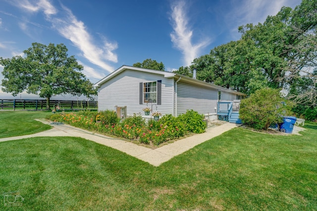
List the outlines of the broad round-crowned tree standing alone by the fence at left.
<svg viewBox="0 0 317 211">
<path fill-rule="evenodd" d="M 14 56 L 11 59 L 0 57 L 4 67 L 2 75 L 2 91 L 13 96 L 26 90 L 46 98 L 47 109 L 50 109 L 50 98 L 58 94 L 85 95 L 97 94 L 93 84 L 81 73 L 83 66 L 78 64 L 74 56 L 67 55 L 64 44 L 32 43 L 32 47 L 24 50 L 25 57 Z"/>
</svg>

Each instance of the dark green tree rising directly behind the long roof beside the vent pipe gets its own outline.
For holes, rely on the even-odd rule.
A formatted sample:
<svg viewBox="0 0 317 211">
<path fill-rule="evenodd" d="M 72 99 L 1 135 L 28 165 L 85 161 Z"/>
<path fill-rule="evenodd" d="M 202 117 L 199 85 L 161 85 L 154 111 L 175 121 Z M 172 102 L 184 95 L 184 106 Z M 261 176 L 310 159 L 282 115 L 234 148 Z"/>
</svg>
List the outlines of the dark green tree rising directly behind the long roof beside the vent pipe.
<svg viewBox="0 0 317 211">
<path fill-rule="evenodd" d="M 249 81 L 253 73 L 254 46 L 249 41 L 231 41 L 214 47 L 210 54 L 194 59 L 197 79 L 231 88 L 245 93 L 250 92 Z"/>
</svg>

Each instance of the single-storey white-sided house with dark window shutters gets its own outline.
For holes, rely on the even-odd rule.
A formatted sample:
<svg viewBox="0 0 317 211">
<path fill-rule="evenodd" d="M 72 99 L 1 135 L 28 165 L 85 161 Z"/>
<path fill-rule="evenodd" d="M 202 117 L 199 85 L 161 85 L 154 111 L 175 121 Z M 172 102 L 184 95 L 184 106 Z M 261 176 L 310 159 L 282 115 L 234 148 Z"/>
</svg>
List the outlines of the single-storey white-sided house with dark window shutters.
<svg viewBox="0 0 317 211">
<path fill-rule="evenodd" d="M 244 93 L 176 73 L 122 66 L 95 84 L 98 110 L 116 110 L 120 116 L 141 113 L 150 107 L 162 115 L 178 116 L 187 110 L 217 119 L 218 102 L 233 102 Z M 229 105 L 229 104 L 228 104 Z"/>
</svg>

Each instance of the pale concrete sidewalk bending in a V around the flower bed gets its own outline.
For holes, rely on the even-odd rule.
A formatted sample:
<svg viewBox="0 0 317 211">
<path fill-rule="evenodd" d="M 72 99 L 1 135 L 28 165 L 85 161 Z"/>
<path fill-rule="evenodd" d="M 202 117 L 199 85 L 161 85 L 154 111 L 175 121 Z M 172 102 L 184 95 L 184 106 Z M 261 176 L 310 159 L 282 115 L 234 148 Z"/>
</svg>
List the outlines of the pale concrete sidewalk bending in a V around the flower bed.
<svg viewBox="0 0 317 211">
<path fill-rule="evenodd" d="M 37 120 L 44 124 L 50 125 L 52 122 L 46 120 Z M 170 160 L 176 155 L 180 155 L 187 150 L 201 144 L 215 136 L 222 134 L 234 127 L 240 126 L 239 124 L 225 123 L 221 126 L 209 127 L 205 133 L 195 134 L 193 136 L 183 138 L 173 143 L 164 145 L 157 149 L 150 149 L 147 147 L 139 146 L 128 141 L 110 138 L 106 135 L 94 133 L 88 130 L 84 130 L 69 125 L 53 125 L 53 128 L 47 131 L 23 135 L 16 137 L 0 138 L 1 141 L 17 140 L 21 138 L 39 137 L 39 136 L 73 136 L 81 137 L 96 143 L 100 143 L 111 147 L 113 149 L 120 150 L 128 155 L 136 157 L 142 161 L 148 162 L 153 166 L 158 167 L 160 164 Z"/>
</svg>

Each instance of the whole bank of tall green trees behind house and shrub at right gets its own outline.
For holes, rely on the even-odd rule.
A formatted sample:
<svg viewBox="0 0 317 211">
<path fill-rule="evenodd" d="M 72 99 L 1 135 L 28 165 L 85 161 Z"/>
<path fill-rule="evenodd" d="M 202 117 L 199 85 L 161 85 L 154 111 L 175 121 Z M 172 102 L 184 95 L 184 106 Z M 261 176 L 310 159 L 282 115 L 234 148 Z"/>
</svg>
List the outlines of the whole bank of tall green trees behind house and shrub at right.
<svg viewBox="0 0 317 211">
<path fill-rule="evenodd" d="M 282 7 L 264 23 L 239 27 L 241 39 L 194 60 L 197 79 L 239 90 L 286 88 L 297 104 L 317 105 L 317 0 Z"/>
</svg>

